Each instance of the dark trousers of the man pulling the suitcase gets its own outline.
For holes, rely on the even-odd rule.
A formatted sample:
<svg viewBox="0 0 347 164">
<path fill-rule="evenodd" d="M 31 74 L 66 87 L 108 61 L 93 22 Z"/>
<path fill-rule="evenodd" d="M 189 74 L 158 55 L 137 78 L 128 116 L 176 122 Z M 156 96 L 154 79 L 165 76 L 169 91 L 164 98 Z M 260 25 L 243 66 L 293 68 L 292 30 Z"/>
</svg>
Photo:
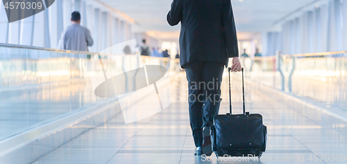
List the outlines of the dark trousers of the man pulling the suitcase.
<svg viewBox="0 0 347 164">
<path fill-rule="evenodd" d="M 185 64 L 189 89 L 189 120 L 196 147 L 203 145 L 202 128 L 212 125 L 219 113 L 224 64 L 192 62 Z"/>
</svg>

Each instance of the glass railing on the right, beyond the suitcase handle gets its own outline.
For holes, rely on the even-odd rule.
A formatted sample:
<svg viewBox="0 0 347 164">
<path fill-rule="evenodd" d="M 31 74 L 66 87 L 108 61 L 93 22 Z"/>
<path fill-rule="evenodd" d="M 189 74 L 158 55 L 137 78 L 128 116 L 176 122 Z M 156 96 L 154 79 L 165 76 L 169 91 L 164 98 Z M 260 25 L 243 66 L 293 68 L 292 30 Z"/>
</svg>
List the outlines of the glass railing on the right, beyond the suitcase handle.
<svg viewBox="0 0 347 164">
<path fill-rule="evenodd" d="M 246 76 L 255 82 L 347 111 L 345 51 L 245 58 L 242 62 Z"/>
</svg>

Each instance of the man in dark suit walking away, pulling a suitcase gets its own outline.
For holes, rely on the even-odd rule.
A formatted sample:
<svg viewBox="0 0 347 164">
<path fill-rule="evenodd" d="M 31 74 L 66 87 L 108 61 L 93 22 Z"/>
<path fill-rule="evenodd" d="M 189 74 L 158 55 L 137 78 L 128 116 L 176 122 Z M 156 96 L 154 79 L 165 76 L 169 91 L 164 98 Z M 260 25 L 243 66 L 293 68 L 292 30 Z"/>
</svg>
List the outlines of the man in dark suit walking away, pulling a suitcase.
<svg viewBox="0 0 347 164">
<path fill-rule="evenodd" d="M 212 154 L 210 126 L 219 113 L 224 66 L 241 71 L 230 0 L 174 0 L 167 15 L 171 26 L 181 22 L 180 64 L 187 73 L 189 120 L 196 155 Z"/>
</svg>

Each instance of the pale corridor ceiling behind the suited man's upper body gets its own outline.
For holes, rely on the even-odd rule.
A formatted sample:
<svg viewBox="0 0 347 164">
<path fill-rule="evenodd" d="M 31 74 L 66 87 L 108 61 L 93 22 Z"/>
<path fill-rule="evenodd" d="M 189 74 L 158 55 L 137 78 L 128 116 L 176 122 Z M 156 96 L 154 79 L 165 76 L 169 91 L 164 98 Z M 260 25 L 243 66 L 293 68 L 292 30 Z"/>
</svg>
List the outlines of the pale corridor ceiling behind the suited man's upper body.
<svg viewBox="0 0 347 164">
<path fill-rule="evenodd" d="M 156 34 L 157 37 L 162 33 L 165 37 L 178 37 L 180 26 L 171 27 L 166 21 L 172 0 L 99 1 L 135 19 L 138 26 L 135 26 L 134 30 L 137 32 L 151 31 L 151 34 Z M 314 1 L 317 0 L 232 0 L 237 31 L 262 32 L 289 13 Z"/>
</svg>

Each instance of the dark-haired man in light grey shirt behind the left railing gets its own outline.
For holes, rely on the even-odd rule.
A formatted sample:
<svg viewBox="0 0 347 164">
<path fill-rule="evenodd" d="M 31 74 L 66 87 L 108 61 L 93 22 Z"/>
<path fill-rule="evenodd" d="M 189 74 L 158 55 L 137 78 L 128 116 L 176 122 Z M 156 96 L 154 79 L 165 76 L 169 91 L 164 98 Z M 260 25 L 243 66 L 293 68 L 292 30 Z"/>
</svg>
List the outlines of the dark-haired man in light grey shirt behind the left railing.
<svg viewBox="0 0 347 164">
<path fill-rule="evenodd" d="M 80 25 L 80 12 L 72 12 L 72 25 L 62 32 L 58 48 L 71 51 L 88 51 L 88 46 L 93 46 L 94 42 L 90 35 L 90 30 Z"/>
</svg>

